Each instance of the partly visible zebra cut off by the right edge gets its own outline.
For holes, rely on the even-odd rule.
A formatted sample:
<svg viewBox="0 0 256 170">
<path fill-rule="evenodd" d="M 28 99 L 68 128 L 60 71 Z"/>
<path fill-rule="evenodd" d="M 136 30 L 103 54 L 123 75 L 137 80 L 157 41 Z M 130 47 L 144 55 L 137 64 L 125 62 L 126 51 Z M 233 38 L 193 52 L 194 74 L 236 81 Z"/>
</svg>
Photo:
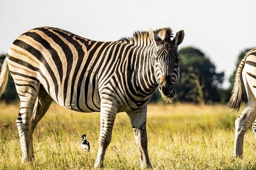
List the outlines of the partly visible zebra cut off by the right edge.
<svg viewBox="0 0 256 170">
<path fill-rule="evenodd" d="M 242 157 L 244 134 L 250 128 L 253 121 L 252 131 L 256 139 L 256 48 L 246 53 L 236 71 L 235 83 L 228 103 L 228 107 L 236 111 L 239 110 L 242 104 L 241 76 L 243 77 L 248 103 L 235 121 L 234 157 Z"/>
</svg>

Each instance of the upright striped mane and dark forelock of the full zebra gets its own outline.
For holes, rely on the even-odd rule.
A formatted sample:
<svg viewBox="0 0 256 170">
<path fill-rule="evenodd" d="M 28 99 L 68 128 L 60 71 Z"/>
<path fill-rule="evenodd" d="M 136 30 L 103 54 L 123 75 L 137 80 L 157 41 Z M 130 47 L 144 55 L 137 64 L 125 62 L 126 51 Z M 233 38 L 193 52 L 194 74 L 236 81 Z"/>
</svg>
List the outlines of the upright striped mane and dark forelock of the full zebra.
<svg viewBox="0 0 256 170">
<path fill-rule="evenodd" d="M 171 28 L 166 27 L 162 29 L 157 29 L 155 30 L 155 32 L 162 40 L 164 40 L 166 45 L 169 45 L 171 43 L 171 38 L 173 38 L 173 33 Z M 120 40 L 126 41 L 128 43 L 134 43 L 134 44 L 140 44 L 140 45 L 150 42 L 148 31 L 135 31 L 132 37 L 128 37 L 128 38 L 123 37 Z"/>
</svg>

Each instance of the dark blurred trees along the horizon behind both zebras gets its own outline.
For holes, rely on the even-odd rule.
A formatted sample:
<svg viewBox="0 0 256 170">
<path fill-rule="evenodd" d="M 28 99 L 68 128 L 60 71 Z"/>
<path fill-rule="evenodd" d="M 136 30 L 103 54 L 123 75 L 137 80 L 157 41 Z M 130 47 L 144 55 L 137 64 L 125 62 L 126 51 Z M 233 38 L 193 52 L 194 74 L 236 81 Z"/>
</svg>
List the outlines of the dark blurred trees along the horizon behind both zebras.
<svg viewBox="0 0 256 170">
<path fill-rule="evenodd" d="M 242 61 L 242 58 L 251 48 L 244 49 L 236 59 L 236 68 Z M 177 95 L 174 102 L 195 103 L 199 105 L 221 103 L 226 104 L 231 96 L 235 72 L 229 78 L 229 87 L 223 88 L 224 72 L 216 72 L 215 65 L 211 62 L 200 49 L 195 47 L 184 47 L 179 50 L 180 55 L 180 82 L 176 87 Z M 0 66 L 2 65 L 6 54 L 0 55 Z M 244 90 L 245 91 L 245 90 Z M 243 99 L 247 97 L 244 92 Z M 7 88 L 0 98 L 7 104 L 19 100 L 15 91 L 14 82 L 9 77 Z M 150 100 L 151 103 L 163 103 L 161 95 L 156 88 L 155 94 Z"/>
</svg>

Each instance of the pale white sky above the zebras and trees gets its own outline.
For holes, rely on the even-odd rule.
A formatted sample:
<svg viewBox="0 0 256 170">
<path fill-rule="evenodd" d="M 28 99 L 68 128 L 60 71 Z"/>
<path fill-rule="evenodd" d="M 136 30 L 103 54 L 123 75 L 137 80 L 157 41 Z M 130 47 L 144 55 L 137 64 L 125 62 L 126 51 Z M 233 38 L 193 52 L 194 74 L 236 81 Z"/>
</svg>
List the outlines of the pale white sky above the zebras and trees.
<svg viewBox="0 0 256 170">
<path fill-rule="evenodd" d="M 174 34 L 185 31 L 179 48 L 200 49 L 217 72 L 225 72 L 226 88 L 239 53 L 256 47 L 255 7 L 255 0 L 0 0 L 0 54 L 22 33 L 42 26 L 99 41 L 171 27 Z"/>
</svg>

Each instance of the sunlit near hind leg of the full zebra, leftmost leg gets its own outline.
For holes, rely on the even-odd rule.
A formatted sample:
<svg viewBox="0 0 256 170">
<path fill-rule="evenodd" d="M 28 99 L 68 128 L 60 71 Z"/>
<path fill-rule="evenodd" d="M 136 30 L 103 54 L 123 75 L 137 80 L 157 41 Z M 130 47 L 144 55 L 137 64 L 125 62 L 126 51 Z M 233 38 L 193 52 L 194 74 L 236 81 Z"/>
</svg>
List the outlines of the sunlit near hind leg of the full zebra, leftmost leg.
<svg viewBox="0 0 256 170">
<path fill-rule="evenodd" d="M 39 88 L 38 86 L 27 86 L 26 84 L 16 84 L 16 89 L 20 98 L 20 111 L 16 120 L 20 145 L 21 145 L 21 161 L 26 162 L 32 160 L 33 157 L 29 151 L 29 131 L 30 131 L 30 120 L 33 114 L 33 109 L 37 99 Z"/>
</svg>

